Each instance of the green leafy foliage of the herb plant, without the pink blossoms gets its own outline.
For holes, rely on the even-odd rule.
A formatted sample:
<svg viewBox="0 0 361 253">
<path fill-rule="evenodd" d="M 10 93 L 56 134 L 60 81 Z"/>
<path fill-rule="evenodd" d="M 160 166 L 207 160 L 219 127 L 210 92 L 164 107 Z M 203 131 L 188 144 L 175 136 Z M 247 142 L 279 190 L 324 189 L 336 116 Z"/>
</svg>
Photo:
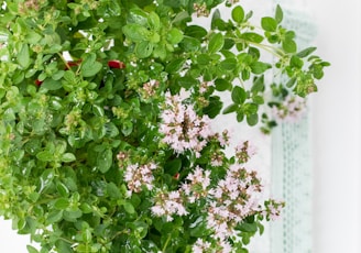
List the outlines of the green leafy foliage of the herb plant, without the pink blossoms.
<svg viewBox="0 0 361 253">
<path fill-rule="evenodd" d="M 280 7 L 259 33 L 240 6 L 229 21 L 216 11 L 210 31 L 189 24 L 195 3 L 211 10 L 220 2 L 1 1 L 0 215 L 41 245 L 30 253 L 189 250 L 204 232 L 189 229 L 197 218 L 151 217 L 150 193 L 129 198 L 117 160 L 119 152 L 152 158 L 164 166 L 165 185 L 179 184 L 174 173 L 195 157 L 176 157 L 160 143 L 164 92 L 189 90 L 197 112 L 210 118 L 222 110 L 217 92 L 231 92 L 223 112 L 255 125 L 266 105 L 265 72 L 280 68 L 289 78 L 282 87 L 296 95 L 316 90 L 328 64 L 314 47 L 298 51 Z M 278 62 L 262 62 L 264 51 Z M 114 59 L 125 67 L 109 67 Z M 158 85 L 150 96 L 143 85 L 151 80 Z M 204 81 L 214 84 L 207 92 Z M 244 222 L 240 230 L 251 238 L 259 220 Z"/>
</svg>

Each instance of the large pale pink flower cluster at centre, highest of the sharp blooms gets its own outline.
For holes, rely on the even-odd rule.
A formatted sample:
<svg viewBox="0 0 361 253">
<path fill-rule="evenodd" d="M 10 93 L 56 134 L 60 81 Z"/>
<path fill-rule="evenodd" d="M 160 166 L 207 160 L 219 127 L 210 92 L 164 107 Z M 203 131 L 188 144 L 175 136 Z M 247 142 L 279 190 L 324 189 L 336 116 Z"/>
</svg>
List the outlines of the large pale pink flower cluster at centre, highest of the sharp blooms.
<svg viewBox="0 0 361 253">
<path fill-rule="evenodd" d="M 160 125 L 160 132 L 164 134 L 163 142 L 178 154 L 193 151 L 199 156 L 207 139 L 212 135 L 210 119 L 197 116 L 192 105 L 183 105 L 180 96 L 167 92 L 165 105 Z"/>
</svg>

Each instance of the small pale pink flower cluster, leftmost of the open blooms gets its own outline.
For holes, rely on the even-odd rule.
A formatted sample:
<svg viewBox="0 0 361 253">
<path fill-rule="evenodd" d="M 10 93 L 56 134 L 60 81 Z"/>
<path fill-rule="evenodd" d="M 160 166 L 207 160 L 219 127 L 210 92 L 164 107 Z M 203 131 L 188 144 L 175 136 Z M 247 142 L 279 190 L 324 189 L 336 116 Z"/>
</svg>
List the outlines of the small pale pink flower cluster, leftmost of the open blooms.
<svg viewBox="0 0 361 253">
<path fill-rule="evenodd" d="M 128 189 L 132 193 L 140 193 L 142 187 L 152 190 L 154 187 L 154 176 L 152 170 L 156 169 L 156 164 L 153 162 L 143 165 L 128 165 L 124 173 L 124 180 L 128 184 Z"/>
</svg>

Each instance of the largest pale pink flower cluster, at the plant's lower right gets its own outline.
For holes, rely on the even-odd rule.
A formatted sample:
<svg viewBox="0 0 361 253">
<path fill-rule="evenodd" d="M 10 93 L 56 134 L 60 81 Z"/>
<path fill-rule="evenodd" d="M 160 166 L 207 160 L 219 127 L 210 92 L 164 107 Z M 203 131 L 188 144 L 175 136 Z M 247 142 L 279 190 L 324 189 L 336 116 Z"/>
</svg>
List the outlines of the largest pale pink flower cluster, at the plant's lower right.
<svg viewBox="0 0 361 253">
<path fill-rule="evenodd" d="M 254 170 L 248 172 L 239 164 L 227 170 L 223 179 L 209 190 L 207 226 L 214 238 L 226 242 L 234 235 L 234 227 L 245 217 L 260 210 L 262 186 Z"/>
</svg>

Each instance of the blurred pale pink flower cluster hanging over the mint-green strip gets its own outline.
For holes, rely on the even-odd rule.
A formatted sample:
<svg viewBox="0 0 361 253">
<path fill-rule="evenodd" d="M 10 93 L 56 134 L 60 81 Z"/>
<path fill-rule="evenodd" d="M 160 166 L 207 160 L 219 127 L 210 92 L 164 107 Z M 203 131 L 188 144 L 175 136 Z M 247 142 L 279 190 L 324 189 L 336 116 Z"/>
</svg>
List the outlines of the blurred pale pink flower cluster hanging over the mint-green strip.
<svg viewBox="0 0 361 253">
<path fill-rule="evenodd" d="M 306 109 L 306 100 L 298 96 L 288 96 L 285 100 L 272 107 L 272 114 L 278 122 L 296 122 L 299 120 Z"/>
</svg>

